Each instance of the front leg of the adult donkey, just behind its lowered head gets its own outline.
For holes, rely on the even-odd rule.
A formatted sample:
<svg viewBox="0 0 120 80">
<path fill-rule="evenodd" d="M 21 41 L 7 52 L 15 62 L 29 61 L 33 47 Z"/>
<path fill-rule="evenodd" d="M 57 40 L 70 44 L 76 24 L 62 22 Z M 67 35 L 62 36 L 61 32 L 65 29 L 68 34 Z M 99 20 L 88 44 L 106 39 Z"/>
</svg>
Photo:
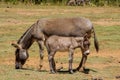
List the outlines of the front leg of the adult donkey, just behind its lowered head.
<svg viewBox="0 0 120 80">
<path fill-rule="evenodd" d="M 39 66 L 40 66 L 40 70 L 41 70 L 41 68 L 42 68 L 42 66 L 43 66 L 43 58 L 44 58 L 44 42 L 43 41 L 37 41 L 38 42 L 38 45 L 39 45 L 39 52 L 40 52 L 40 64 L 39 64 Z"/>
</svg>

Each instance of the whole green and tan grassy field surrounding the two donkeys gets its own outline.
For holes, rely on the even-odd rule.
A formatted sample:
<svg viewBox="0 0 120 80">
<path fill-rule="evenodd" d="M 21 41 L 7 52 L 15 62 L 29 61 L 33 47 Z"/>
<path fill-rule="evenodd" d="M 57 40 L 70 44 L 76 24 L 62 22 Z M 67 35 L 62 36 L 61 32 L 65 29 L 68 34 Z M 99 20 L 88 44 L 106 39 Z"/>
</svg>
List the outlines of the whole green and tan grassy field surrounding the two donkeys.
<svg viewBox="0 0 120 80">
<path fill-rule="evenodd" d="M 14 69 L 14 48 L 10 45 L 17 41 L 20 36 L 40 18 L 48 17 L 74 17 L 82 16 L 89 18 L 95 27 L 100 44 L 100 52 L 96 53 L 91 39 L 91 54 L 88 56 L 86 67 L 89 74 L 83 72 L 58 72 L 49 74 L 47 52 L 43 69 L 39 68 L 39 49 L 34 43 L 29 50 L 29 59 L 24 68 Z M 112 7 L 66 7 L 66 6 L 33 6 L 16 5 L 7 8 L 0 6 L 0 80 L 103 80 L 120 79 L 120 8 Z M 76 68 L 81 59 L 79 49 L 75 51 L 73 67 Z M 63 63 L 63 70 L 68 68 L 68 53 L 58 52 L 55 56 L 57 67 Z"/>
</svg>

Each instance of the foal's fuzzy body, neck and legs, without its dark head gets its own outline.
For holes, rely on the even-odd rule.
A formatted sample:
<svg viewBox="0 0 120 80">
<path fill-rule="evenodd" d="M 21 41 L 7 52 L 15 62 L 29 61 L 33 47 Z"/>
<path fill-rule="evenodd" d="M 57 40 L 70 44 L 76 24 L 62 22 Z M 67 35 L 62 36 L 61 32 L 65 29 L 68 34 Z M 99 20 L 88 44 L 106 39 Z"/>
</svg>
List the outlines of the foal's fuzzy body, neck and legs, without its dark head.
<svg viewBox="0 0 120 80">
<path fill-rule="evenodd" d="M 83 41 L 83 37 L 61 37 L 55 35 L 49 37 L 45 44 L 48 51 L 50 73 L 56 73 L 56 65 L 54 61 L 55 53 L 57 51 L 69 51 L 69 73 L 72 74 L 73 53 L 76 48 L 84 49 Z"/>
</svg>

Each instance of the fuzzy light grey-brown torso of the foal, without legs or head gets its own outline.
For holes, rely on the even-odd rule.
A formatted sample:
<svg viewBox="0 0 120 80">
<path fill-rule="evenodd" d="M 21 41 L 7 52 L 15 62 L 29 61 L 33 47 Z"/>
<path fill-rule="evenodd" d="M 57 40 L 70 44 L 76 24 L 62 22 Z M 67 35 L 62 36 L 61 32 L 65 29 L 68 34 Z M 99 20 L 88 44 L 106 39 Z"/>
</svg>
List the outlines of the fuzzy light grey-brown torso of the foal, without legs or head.
<svg viewBox="0 0 120 80">
<path fill-rule="evenodd" d="M 46 40 L 46 47 L 50 51 L 68 51 L 83 46 L 83 37 L 51 36 Z"/>
</svg>

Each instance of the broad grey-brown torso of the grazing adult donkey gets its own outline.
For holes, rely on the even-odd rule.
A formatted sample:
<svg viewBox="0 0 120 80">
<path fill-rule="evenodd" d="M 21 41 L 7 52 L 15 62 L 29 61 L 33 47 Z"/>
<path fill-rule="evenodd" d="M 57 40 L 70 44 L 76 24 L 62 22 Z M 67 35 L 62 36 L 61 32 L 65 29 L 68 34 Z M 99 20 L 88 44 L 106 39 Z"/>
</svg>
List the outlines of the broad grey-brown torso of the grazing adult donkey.
<svg viewBox="0 0 120 80">
<path fill-rule="evenodd" d="M 47 35 L 82 36 L 92 30 L 90 20 L 81 17 L 38 20 L 39 27 Z"/>
</svg>

